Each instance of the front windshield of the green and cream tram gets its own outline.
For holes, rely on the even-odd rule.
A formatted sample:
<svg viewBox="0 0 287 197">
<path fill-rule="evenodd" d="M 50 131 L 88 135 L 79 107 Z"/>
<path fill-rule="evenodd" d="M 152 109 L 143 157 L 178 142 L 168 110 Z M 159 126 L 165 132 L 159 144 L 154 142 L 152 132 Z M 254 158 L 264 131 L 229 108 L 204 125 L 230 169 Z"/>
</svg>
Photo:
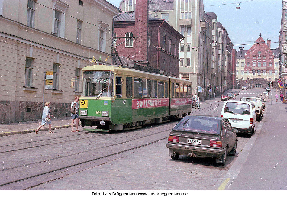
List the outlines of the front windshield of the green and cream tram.
<svg viewBox="0 0 287 197">
<path fill-rule="evenodd" d="M 83 96 L 114 96 L 114 73 L 110 71 L 85 71 Z"/>
</svg>

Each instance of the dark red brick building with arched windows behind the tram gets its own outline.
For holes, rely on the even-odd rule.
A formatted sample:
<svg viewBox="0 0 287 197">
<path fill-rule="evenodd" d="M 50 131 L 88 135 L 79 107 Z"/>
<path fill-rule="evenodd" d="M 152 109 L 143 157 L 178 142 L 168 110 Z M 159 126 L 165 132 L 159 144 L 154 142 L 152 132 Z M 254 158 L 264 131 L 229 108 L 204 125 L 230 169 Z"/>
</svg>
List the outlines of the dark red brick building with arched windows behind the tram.
<svg viewBox="0 0 287 197">
<path fill-rule="evenodd" d="M 144 39 L 135 35 L 135 13 L 123 13 L 114 20 L 114 33 L 116 37 L 135 37 L 125 41 L 126 38 L 117 40 L 119 56 L 128 57 L 131 61 L 145 61 L 144 57 L 140 59 L 134 51 L 134 46 L 139 44 L 142 50 L 147 48 L 147 61 L 149 67 L 172 73 L 178 77 L 179 69 L 179 42 L 183 36 L 170 26 L 164 19 L 149 17 L 148 21 L 148 39 L 145 44 Z M 139 30 L 139 29 L 137 29 Z M 118 63 L 118 62 L 117 62 Z"/>
</svg>

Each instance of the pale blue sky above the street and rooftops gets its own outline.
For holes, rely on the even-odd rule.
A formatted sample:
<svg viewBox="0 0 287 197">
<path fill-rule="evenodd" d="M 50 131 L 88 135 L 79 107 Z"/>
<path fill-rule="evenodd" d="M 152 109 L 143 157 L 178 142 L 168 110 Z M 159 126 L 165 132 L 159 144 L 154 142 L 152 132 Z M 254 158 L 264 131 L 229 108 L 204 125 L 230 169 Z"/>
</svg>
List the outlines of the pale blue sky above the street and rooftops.
<svg viewBox="0 0 287 197">
<path fill-rule="evenodd" d="M 121 0 L 108 2 L 119 7 Z M 203 4 L 205 12 L 217 15 L 237 51 L 239 47 L 248 50 L 260 33 L 265 42 L 271 40 L 271 48 L 278 47 L 282 0 L 203 0 Z"/>
</svg>

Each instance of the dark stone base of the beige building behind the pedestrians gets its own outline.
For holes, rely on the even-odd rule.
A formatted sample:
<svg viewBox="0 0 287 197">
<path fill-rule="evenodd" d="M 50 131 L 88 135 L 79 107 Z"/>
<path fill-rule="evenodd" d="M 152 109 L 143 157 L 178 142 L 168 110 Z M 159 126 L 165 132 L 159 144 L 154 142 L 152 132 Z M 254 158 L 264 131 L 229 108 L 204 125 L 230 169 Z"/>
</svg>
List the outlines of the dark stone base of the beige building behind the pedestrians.
<svg viewBox="0 0 287 197">
<path fill-rule="evenodd" d="M 71 103 L 50 103 L 50 113 L 55 118 L 68 117 Z M 42 118 L 42 102 L 0 101 L 0 124 Z"/>
</svg>

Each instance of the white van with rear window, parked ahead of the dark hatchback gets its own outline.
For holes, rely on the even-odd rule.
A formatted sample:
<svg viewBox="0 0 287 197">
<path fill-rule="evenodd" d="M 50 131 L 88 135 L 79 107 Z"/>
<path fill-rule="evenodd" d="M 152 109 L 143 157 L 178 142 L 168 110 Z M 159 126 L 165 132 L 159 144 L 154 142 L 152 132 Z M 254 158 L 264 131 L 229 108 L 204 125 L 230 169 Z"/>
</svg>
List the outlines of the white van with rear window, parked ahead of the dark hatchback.
<svg viewBox="0 0 287 197">
<path fill-rule="evenodd" d="M 221 117 L 227 118 L 233 129 L 238 133 L 248 133 L 250 137 L 255 128 L 255 105 L 246 101 L 225 101 L 221 110 Z"/>
</svg>

